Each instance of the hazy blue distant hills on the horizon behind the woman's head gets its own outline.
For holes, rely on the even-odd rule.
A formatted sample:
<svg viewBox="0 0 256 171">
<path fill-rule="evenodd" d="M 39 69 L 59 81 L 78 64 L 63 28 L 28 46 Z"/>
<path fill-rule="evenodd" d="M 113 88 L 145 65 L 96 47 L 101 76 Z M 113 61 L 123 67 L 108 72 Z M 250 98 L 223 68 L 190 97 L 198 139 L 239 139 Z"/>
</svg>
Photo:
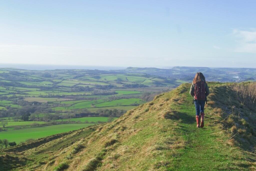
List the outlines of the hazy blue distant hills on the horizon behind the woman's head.
<svg viewBox="0 0 256 171">
<path fill-rule="evenodd" d="M 156 76 L 170 77 L 183 81 L 191 81 L 195 73 L 202 72 L 208 81 L 242 82 L 248 78 L 256 79 L 256 68 L 209 68 L 175 66 L 171 69 L 128 67 L 116 70 L 124 73 L 143 73 Z"/>
</svg>

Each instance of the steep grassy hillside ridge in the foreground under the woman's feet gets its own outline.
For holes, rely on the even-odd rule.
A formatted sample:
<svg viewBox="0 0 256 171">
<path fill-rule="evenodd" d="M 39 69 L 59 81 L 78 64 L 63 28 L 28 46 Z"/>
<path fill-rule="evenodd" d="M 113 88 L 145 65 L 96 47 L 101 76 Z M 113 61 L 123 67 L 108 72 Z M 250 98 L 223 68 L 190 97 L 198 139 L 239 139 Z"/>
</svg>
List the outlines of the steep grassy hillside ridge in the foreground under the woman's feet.
<svg viewBox="0 0 256 171">
<path fill-rule="evenodd" d="M 12 165 L 14 170 L 256 169 L 255 85 L 209 86 L 204 128 L 196 128 L 190 85 L 183 84 L 112 123 L 19 152 L 10 152 L 18 147 L 2 150 L 1 160 L 7 164 L 4 159 L 18 157 L 22 164 Z M 249 94 L 242 91 L 246 88 Z"/>
</svg>

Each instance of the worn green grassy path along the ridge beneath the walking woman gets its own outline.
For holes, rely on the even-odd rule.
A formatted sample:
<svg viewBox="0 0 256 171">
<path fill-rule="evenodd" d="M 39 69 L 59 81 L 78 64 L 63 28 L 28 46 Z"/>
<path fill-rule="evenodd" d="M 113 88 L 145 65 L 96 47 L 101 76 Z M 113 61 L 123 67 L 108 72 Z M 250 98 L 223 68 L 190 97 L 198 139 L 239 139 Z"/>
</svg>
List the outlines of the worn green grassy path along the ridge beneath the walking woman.
<svg viewBox="0 0 256 171">
<path fill-rule="evenodd" d="M 186 93 L 185 93 L 186 94 Z M 179 131 L 186 141 L 180 156 L 173 160 L 170 170 L 249 170 L 248 156 L 238 147 L 231 147 L 229 139 L 214 123 L 216 116 L 211 116 L 209 108 L 205 109 L 205 127 L 197 128 L 195 107 L 191 97 L 186 94 L 185 101 L 177 110 L 182 113 Z"/>
</svg>

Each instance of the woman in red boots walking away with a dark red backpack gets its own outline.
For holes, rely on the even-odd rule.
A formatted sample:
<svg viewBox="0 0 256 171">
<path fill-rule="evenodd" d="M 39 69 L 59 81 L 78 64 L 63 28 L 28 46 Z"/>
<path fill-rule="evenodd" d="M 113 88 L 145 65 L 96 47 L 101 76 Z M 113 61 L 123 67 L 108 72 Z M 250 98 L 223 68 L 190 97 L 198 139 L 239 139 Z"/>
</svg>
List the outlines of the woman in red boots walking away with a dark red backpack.
<svg viewBox="0 0 256 171">
<path fill-rule="evenodd" d="M 202 73 L 196 73 L 189 91 L 194 97 L 193 101 L 196 107 L 196 123 L 197 127 L 204 127 L 204 107 L 207 101 L 206 97 L 210 94 L 209 87 L 205 81 L 205 76 Z M 207 102 L 206 102 L 207 103 Z M 201 125 L 200 125 L 201 117 Z"/>
</svg>

